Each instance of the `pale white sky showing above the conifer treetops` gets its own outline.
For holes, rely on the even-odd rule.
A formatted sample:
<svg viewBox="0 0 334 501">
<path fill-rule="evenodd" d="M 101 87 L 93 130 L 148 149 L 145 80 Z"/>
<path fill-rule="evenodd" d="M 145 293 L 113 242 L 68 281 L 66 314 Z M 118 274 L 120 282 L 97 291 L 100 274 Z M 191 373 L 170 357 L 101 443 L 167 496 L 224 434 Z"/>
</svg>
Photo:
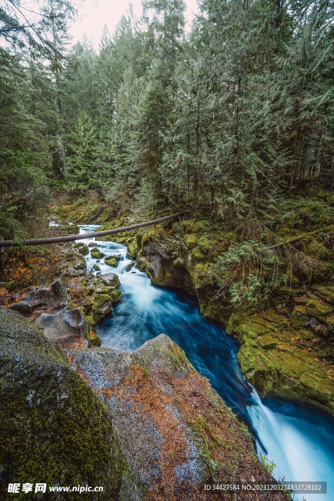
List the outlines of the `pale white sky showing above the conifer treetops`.
<svg viewBox="0 0 334 501">
<path fill-rule="evenodd" d="M 129 7 L 128 0 L 77 0 L 78 18 L 70 27 L 73 43 L 82 40 L 84 35 L 92 39 L 93 45 L 98 49 L 104 25 L 109 32 L 114 33 L 115 27 Z M 185 17 L 189 26 L 193 14 L 198 12 L 196 0 L 185 0 L 187 10 Z M 141 0 L 132 0 L 133 12 L 136 17 L 142 14 Z"/>
</svg>

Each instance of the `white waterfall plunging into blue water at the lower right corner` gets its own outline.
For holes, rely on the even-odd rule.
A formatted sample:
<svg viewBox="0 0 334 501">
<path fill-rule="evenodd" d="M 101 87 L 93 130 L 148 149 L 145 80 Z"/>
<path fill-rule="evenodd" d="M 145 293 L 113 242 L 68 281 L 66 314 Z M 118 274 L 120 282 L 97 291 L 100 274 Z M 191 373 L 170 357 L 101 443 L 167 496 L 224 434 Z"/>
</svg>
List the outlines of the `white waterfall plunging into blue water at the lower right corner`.
<svg viewBox="0 0 334 501">
<path fill-rule="evenodd" d="M 298 482 L 327 481 L 327 495 L 312 493 L 308 497 L 304 494 L 304 497 L 310 501 L 334 499 L 331 485 L 333 450 L 328 443 L 326 428 L 307 419 L 309 411 L 303 409 L 302 403 L 298 405 L 299 417 L 295 417 L 285 414 L 284 408 L 283 412 L 275 412 L 267 407 L 254 388 L 251 396 L 252 405 L 247 406 L 247 413 L 260 437 L 261 444 L 256 444 L 257 453 L 274 461 L 275 478 Z M 285 402 L 284 405 L 288 411 L 292 404 Z"/>
</svg>

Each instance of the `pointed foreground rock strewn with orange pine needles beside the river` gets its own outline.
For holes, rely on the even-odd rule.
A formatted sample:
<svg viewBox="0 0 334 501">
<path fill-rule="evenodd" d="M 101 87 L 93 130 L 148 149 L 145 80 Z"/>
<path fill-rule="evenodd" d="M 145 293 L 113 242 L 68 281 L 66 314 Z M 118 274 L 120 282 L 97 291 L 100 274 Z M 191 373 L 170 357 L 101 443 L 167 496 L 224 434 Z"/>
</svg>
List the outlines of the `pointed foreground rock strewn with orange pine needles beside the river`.
<svg viewBox="0 0 334 501">
<path fill-rule="evenodd" d="M 272 481 L 245 426 L 165 334 L 131 354 L 108 348 L 68 354 L 114 416 L 126 464 L 122 501 L 210 501 L 217 494 L 204 494 L 204 483 L 248 483 L 252 475 Z M 263 492 L 247 496 L 269 499 Z M 286 497 L 277 492 L 270 499 Z"/>
</svg>

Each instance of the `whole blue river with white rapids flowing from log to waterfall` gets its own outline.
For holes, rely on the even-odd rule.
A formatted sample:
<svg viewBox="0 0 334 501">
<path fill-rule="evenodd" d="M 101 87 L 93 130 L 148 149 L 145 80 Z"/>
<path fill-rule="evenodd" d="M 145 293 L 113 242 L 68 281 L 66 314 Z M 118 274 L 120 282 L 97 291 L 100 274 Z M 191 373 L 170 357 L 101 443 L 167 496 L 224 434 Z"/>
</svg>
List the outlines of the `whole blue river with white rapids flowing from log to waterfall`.
<svg viewBox="0 0 334 501">
<path fill-rule="evenodd" d="M 81 225 L 80 232 L 98 225 Z M 82 239 L 85 243 L 95 240 Z M 321 409 L 305 402 L 278 397 L 261 399 L 245 380 L 237 361 L 238 343 L 222 326 L 199 314 L 197 302 L 170 289 L 151 286 L 145 273 L 126 257 L 127 248 L 115 242 L 96 240 L 106 255 L 120 255 L 118 267 L 86 256 L 91 271 L 117 273 L 122 296 L 114 311 L 99 325 L 103 346 L 125 351 L 139 348 L 161 334 L 170 336 L 186 353 L 194 367 L 232 407 L 252 433 L 258 455 L 275 463 L 273 475 L 286 481 L 326 481 L 327 494 L 295 494 L 307 501 L 334 500 L 334 420 Z M 91 250 L 91 249 L 90 249 Z"/>
</svg>

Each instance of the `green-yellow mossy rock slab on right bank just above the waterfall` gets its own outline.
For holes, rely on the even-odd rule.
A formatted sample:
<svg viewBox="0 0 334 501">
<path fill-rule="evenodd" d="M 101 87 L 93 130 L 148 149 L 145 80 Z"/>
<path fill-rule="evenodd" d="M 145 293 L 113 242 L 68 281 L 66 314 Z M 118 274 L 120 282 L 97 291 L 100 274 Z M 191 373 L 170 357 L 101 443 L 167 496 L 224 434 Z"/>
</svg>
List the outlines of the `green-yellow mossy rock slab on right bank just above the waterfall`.
<svg viewBox="0 0 334 501">
<path fill-rule="evenodd" d="M 290 314 L 273 309 L 233 313 L 226 332 L 240 342 L 241 370 L 260 394 L 294 394 L 333 412 L 334 346 L 325 324 L 332 308 L 314 299 L 304 301 L 307 306 L 295 305 Z"/>
</svg>

